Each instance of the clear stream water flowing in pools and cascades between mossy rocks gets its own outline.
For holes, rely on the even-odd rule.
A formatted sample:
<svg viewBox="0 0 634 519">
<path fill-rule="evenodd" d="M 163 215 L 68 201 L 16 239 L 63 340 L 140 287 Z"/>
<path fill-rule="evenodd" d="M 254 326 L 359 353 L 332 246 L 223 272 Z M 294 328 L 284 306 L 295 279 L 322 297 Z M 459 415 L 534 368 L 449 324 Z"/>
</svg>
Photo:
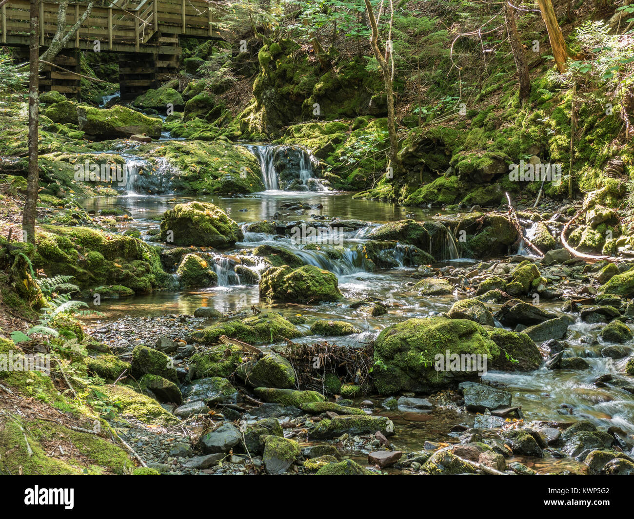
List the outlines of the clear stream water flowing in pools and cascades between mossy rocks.
<svg viewBox="0 0 634 519">
<path fill-rule="evenodd" d="M 394 267 L 391 269 L 378 269 L 368 271 L 363 258 L 358 252 L 358 247 L 368 238 L 368 233 L 379 224 L 404 219 L 405 214 L 417 221 L 430 221 L 432 213 L 425 208 L 402 208 L 398 205 L 370 200 L 354 199 L 349 193 L 333 193 L 332 191 L 280 191 L 278 177 L 273 174 L 273 153 L 260 145 L 249 145 L 256 153 L 262 164 L 262 176 L 268 191 L 254 195 L 230 198 L 225 196 L 197 196 L 181 197 L 168 195 L 122 195 L 117 197 L 89 198 L 83 200 L 84 207 L 101 210 L 112 207 L 125 208 L 133 221 L 127 226 L 138 228 L 145 240 L 150 238 L 147 231 L 156 229 L 159 223 L 154 219 L 165 210 L 173 207 L 175 203 L 201 200 L 212 202 L 230 215 L 230 217 L 243 225 L 243 229 L 250 222 L 262 220 L 280 222 L 297 222 L 297 225 L 310 222 L 329 222 L 332 218 L 362 219 L 370 221 L 368 227 L 361 227 L 358 231 L 344 233 L 340 243 L 332 246 L 339 251 L 339 259 L 332 259 L 328 255 L 328 247 L 322 250 L 305 250 L 301 244 L 297 244 L 284 236 L 273 236 L 264 233 L 245 232 L 244 240 L 236 243 L 233 250 L 223 253 L 210 253 L 210 265 L 216 271 L 219 286 L 200 290 L 186 290 L 182 292 L 157 292 L 151 295 L 136 296 L 133 298 L 103 301 L 100 312 L 103 316 L 89 317 L 89 321 L 110 321 L 124 316 L 161 316 L 165 314 L 193 314 L 200 306 L 211 306 L 223 313 L 233 313 L 250 309 L 251 305 L 257 305 L 261 310 L 275 309 L 285 316 L 298 313 L 306 317 L 318 317 L 321 319 L 341 319 L 356 324 L 363 332 L 359 335 L 351 335 L 337 338 L 338 343 L 351 346 L 368 342 L 378 331 L 390 324 L 403 321 L 411 317 L 427 317 L 446 312 L 450 309 L 456 298 L 445 297 L 421 297 L 411 292 L 406 283 L 412 281 L 411 274 L 415 272 L 408 266 L 404 248 L 396 247 L 391 254 Z M 270 147 L 269 147 L 270 148 Z M 167 167 L 167 165 L 164 165 Z M 311 177 L 307 177 L 310 179 Z M 304 182 L 304 179 L 302 179 Z M 134 183 L 126 185 L 126 191 L 133 190 Z M 288 202 L 302 202 L 311 206 L 310 210 L 304 210 L 299 214 L 292 210 L 280 209 L 280 206 Z M 274 218 L 275 215 L 275 218 Z M 121 231 L 129 227 L 122 227 Z M 455 238 L 447 230 L 442 236 L 444 241 L 444 260 L 440 266 L 455 264 L 468 266 L 475 260 L 459 259 Z M 344 299 L 336 304 L 320 305 L 296 305 L 276 304 L 261 300 L 257 285 L 244 283 L 236 274 L 234 266 L 235 257 L 245 253 L 257 245 L 271 244 L 285 248 L 299 257 L 307 264 L 312 264 L 334 272 L 339 279 L 339 288 Z M 262 266 L 256 266 L 258 271 Z M 414 280 L 415 281 L 415 280 Z M 381 297 L 389 300 L 391 306 L 388 313 L 379 317 L 370 317 L 359 311 L 349 308 L 354 300 L 365 297 Z M 491 305 L 495 310 L 497 305 Z M 543 309 L 562 314 L 561 302 L 541 304 Z M 306 326 L 304 326 L 306 328 Z M 581 352 L 586 357 L 591 369 L 586 371 L 555 370 L 548 371 L 540 368 L 533 373 L 501 373 L 489 371 L 484 380 L 505 388 L 513 394 L 513 404 L 522 406 L 522 412 L 527 421 L 551 420 L 557 422 L 592 420 L 597 426 L 607 428 L 618 426 L 626 434 L 634 434 L 634 400 L 631 394 L 611 384 L 609 387 L 598 388 L 593 385 L 597 376 L 611 374 L 614 380 L 623 380 L 626 377 L 618 372 L 618 364 L 615 366 L 600 355 L 600 349 L 605 346 L 600 338 L 597 338 L 598 329 L 580 321 L 570 328 L 571 337 L 567 340 L 571 349 Z M 596 340 L 588 342 L 588 338 Z M 320 340 L 318 336 L 308 336 L 299 340 L 310 342 Z M 328 340 L 332 340 L 328 339 Z M 378 397 L 377 397 L 378 399 Z M 376 400 L 375 401 L 380 401 Z M 574 414 L 569 414 L 569 409 L 574 408 Z M 463 423 L 472 425 L 472 414 L 456 414 L 454 411 L 436 409 L 431 413 L 400 413 L 385 412 L 386 416 L 393 418 L 399 426 L 399 435 L 394 438 L 394 443 L 408 451 L 422 448 L 424 440 L 431 441 L 455 441 L 449 433 L 452 425 Z M 551 461 L 549 461 L 549 459 Z M 526 459 L 522 461 L 527 463 Z M 574 460 L 569 460 L 569 468 L 576 466 Z M 533 460 L 529 465 L 538 471 L 552 470 L 552 458 Z M 562 464 L 558 462 L 559 469 Z"/>
</svg>

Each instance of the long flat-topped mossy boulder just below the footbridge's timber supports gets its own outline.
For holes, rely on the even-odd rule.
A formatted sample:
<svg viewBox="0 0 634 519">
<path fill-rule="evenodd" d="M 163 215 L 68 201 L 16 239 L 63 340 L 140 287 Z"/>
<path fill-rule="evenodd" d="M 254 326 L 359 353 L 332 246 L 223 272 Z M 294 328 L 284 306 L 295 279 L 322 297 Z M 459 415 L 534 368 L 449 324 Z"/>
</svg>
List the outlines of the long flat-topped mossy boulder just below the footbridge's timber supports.
<svg viewBox="0 0 634 519">
<path fill-rule="evenodd" d="M 162 120 L 120 105 L 105 110 L 78 106 L 77 118 L 79 129 L 96 139 L 125 138 L 135 134 L 146 134 L 158 139 L 163 127 Z"/>
</svg>

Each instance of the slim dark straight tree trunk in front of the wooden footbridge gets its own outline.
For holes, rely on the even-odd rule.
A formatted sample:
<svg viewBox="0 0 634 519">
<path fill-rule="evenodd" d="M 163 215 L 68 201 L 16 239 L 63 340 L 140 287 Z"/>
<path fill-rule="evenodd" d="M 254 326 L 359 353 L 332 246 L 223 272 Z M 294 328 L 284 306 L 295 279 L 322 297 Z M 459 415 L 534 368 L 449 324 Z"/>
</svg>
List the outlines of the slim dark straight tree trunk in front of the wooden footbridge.
<svg viewBox="0 0 634 519">
<path fill-rule="evenodd" d="M 30 3 L 29 46 L 29 175 L 27 196 L 22 212 L 22 239 L 36 243 L 36 210 L 39 174 L 37 169 L 37 108 L 39 103 L 39 6 L 37 0 Z"/>
</svg>

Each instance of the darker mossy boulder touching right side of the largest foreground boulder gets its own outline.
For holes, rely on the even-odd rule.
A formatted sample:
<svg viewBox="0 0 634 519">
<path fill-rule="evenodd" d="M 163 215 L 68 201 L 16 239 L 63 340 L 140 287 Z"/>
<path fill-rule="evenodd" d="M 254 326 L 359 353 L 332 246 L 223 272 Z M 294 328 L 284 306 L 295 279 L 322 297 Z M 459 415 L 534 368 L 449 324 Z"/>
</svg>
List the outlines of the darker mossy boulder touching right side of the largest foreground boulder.
<svg viewBox="0 0 634 519">
<path fill-rule="evenodd" d="M 487 327 L 486 333 L 500 348 L 500 355 L 489 362 L 489 369 L 534 371 L 541 366 L 540 350 L 526 333 L 493 327 Z"/>
</svg>

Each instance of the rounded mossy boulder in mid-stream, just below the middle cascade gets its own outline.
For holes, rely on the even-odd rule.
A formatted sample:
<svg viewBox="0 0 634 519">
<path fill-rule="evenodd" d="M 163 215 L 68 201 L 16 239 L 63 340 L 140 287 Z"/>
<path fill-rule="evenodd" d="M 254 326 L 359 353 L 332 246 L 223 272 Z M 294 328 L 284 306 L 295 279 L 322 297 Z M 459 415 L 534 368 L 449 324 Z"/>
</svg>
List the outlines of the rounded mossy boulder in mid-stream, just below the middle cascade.
<svg viewBox="0 0 634 519">
<path fill-rule="evenodd" d="M 342 298 L 337 276 L 313 265 L 299 269 L 289 266 L 268 269 L 262 274 L 260 293 L 274 300 L 300 303 L 338 301 Z"/>
</svg>

